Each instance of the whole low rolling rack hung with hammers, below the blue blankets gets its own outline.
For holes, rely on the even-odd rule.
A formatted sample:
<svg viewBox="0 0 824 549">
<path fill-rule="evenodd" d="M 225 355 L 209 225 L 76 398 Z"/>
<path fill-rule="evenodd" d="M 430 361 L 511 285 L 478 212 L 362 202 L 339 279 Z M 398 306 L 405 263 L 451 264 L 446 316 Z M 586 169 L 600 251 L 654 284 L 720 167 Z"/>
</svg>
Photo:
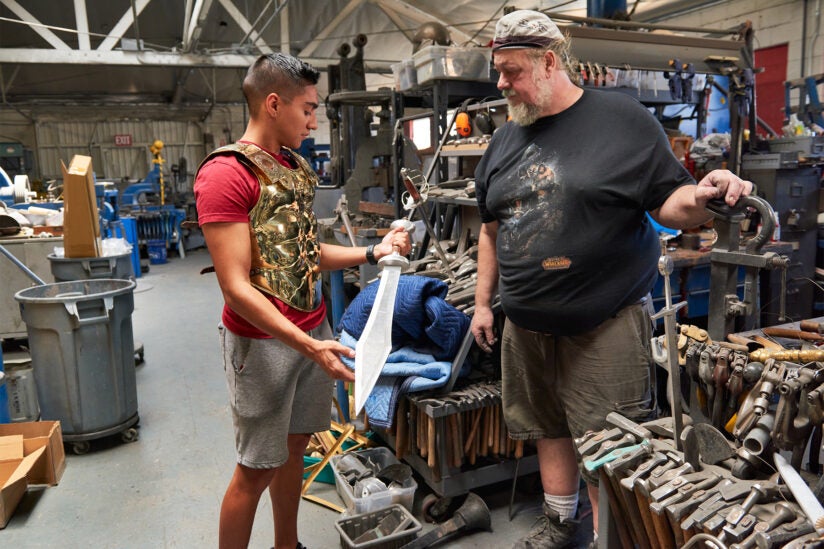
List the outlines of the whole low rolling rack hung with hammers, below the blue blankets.
<svg viewBox="0 0 824 549">
<path fill-rule="evenodd" d="M 501 382 L 476 382 L 444 394 L 401 397 L 385 442 L 441 497 L 514 480 L 538 470 L 536 454 L 509 438 Z"/>
</svg>

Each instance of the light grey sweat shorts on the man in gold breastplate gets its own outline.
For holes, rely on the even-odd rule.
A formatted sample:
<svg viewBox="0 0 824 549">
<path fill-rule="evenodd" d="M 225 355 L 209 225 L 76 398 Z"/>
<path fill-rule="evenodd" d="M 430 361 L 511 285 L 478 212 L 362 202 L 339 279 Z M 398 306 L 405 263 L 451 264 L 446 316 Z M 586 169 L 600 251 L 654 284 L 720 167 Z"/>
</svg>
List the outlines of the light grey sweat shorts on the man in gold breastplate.
<svg viewBox="0 0 824 549">
<path fill-rule="evenodd" d="M 326 372 L 277 339 L 241 337 L 218 327 L 237 462 L 252 469 L 280 467 L 289 434 L 329 428 L 334 382 Z M 331 339 L 327 322 L 309 332 Z"/>
</svg>

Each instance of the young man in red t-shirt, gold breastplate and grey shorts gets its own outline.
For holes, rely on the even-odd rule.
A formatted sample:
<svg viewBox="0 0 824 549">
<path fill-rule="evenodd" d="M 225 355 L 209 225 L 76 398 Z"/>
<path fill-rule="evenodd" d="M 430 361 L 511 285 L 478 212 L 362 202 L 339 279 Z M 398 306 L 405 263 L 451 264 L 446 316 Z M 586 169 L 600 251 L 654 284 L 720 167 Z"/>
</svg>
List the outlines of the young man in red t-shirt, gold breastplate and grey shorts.
<svg viewBox="0 0 824 549">
<path fill-rule="evenodd" d="M 284 54 L 249 68 L 249 123 L 237 143 L 212 152 L 195 180 L 200 225 L 225 306 L 219 327 L 235 430 L 237 465 L 220 509 L 220 547 L 249 543 L 260 496 L 269 489 L 275 547 L 299 549 L 303 453 L 329 427 L 332 379 L 351 381 L 332 339 L 320 271 L 409 253 L 393 230 L 380 244 L 318 242 L 312 212 L 317 176 L 295 154 L 317 129 L 319 73 Z"/>
</svg>

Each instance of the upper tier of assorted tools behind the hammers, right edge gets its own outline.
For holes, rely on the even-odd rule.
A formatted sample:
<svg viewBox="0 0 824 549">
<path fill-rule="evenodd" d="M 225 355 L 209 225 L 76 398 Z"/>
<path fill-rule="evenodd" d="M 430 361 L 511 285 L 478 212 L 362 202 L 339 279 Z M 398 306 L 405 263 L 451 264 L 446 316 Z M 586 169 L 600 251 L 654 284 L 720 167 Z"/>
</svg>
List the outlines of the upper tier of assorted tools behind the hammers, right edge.
<svg viewBox="0 0 824 549">
<path fill-rule="evenodd" d="M 824 350 L 785 349 L 760 336 L 713 342 L 694 326 L 680 331 L 679 363 L 695 382 L 701 412 L 737 441 L 733 473 L 768 473 L 764 456 L 776 450 L 790 452 L 798 469 L 811 439 L 809 462 L 818 472 Z"/>
</svg>

